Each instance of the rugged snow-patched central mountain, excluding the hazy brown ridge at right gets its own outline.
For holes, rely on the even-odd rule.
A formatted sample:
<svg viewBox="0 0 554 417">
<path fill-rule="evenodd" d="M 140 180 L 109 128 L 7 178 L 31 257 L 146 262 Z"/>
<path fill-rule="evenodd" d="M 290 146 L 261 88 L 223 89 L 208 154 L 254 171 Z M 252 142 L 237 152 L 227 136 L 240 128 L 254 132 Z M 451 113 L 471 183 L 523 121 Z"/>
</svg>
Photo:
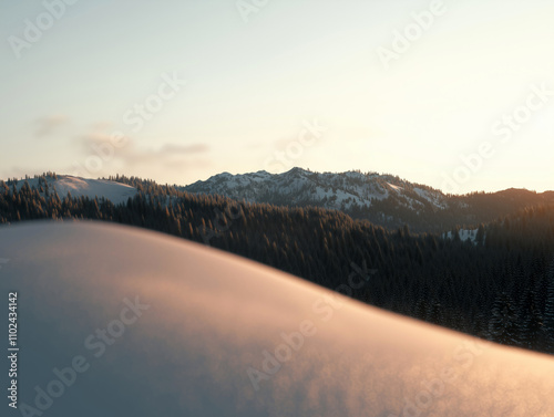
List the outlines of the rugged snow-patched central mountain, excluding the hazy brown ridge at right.
<svg viewBox="0 0 554 417">
<path fill-rule="evenodd" d="M 255 202 L 287 206 L 312 204 L 347 211 L 356 206 L 370 207 L 372 201 L 389 197 L 412 210 L 429 206 L 440 209 L 447 205 L 447 198 L 441 191 L 391 175 L 358 171 L 319 174 L 301 168 L 293 168 L 285 174 L 264 170 L 244 175 L 224 173 L 205 181 L 194 183 L 185 187 L 185 190 L 218 194 Z"/>
</svg>

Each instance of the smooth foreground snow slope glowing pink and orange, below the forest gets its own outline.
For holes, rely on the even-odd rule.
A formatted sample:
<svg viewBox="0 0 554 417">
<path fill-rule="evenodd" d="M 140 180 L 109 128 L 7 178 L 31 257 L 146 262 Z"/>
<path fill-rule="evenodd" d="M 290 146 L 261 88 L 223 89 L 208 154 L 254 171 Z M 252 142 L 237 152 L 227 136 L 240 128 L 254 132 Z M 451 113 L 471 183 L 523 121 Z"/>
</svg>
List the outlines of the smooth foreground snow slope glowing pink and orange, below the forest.
<svg viewBox="0 0 554 417">
<path fill-rule="evenodd" d="M 19 300 L 19 406 L 55 392 L 55 369 L 75 357 L 89 365 L 42 417 L 554 415 L 550 356 L 386 313 L 196 243 L 31 222 L 0 228 L 0 257 L 10 260 L 0 270 L 6 320 L 8 292 Z M 148 307 L 137 317 L 125 299 Z M 105 329 L 112 344 L 95 334 Z M 263 372 L 268 355 L 283 362 L 266 359 L 255 389 L 248 373 Z"/>
</svg>

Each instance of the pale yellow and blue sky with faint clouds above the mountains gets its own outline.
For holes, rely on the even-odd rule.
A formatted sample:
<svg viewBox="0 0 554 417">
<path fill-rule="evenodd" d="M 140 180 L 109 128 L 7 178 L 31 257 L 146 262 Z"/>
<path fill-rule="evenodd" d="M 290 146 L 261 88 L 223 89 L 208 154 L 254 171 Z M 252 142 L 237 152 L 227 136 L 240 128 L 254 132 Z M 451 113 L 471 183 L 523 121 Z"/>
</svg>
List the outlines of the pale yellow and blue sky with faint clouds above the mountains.
<svg viewBox="0 0 554 417">
<path fill-rule="evenodd" d="M 553 18 L 552 0 L 2 2 L 0 178 L 300 166 L 554 189 Z"/>
</svg>

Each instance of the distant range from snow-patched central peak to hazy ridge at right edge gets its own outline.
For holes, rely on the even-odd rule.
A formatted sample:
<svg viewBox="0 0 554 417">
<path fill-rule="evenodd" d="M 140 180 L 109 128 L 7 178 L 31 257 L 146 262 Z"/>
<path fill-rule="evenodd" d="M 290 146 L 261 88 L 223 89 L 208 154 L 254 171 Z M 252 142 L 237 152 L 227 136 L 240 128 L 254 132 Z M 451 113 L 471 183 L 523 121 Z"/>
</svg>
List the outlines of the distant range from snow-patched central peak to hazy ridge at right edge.
<svg viewBox="0 0 554 417">
<path fill-rule="evenodd" d="M 184 190 L 286 207 L 316 206 L 341 210 L 387 228 L 408 225 L 413 231 L 442 232 L 456 225 L 479 226 L 522 208 L 554 202 L 554 191 L 507 189 L 464 196 L 445 195 L 392 175 L 360 171 L 311 173 L 293 168 L 284 174 L 223 173 Z"/>
</svg>

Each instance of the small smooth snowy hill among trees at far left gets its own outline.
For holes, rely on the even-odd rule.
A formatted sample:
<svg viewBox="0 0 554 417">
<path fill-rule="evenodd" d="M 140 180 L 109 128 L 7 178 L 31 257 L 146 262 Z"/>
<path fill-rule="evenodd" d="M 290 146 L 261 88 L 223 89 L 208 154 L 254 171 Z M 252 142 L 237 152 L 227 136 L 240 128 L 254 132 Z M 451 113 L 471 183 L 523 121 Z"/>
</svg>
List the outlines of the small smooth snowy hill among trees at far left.
<svg viewBox="0 0 554 417">
<path fill-rule="evenodd" d="M 130 197 L 132 198 L 137 194 L 136 188 L 121 183 L 73 177 L 70 175 L 58 175 L 55 179 L 47 177 L 45 184 L 39 178 L 21 179 L 17 184 L 18 189 L 21 189 L 25 181 L 31 188 L 42 189 L 41 194 L 45 194 L 48 188 L 50 194 L 53 194 L 55 190 L 60 198 L 65 197 L 70 192 L 72 197 L 89 197 L 91 199 L 94 197 L 104 197 L 114 205 L 126 202 Z"/>
</svg>

